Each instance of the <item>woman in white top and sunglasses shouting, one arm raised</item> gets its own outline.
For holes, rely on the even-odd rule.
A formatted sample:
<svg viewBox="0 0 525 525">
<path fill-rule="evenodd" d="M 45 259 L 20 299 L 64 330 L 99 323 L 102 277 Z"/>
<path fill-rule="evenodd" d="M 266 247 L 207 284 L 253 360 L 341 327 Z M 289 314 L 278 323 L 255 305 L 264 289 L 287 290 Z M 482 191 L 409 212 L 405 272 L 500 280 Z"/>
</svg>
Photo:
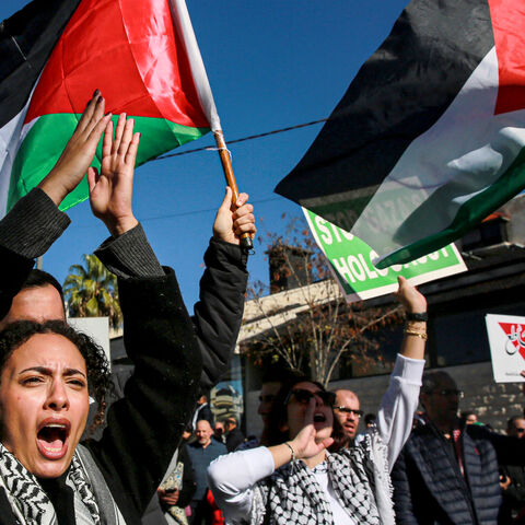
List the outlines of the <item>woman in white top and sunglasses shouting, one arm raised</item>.
<svg viewBox="0 0 525 525">
<path fill-rule="evenodd" d="M 410 434 L 427 339 L 424 298 L 399 278 L 397 299 L 407 325 L 377 425 L 360 445 L 327 452 L 342 438 L 335 395 L 304 377 L 283 385 L 270 415 L 270 446 L 222 456 L 208 469 L 229 523 L 394 525 L 389 471 Z"/>
</svg>

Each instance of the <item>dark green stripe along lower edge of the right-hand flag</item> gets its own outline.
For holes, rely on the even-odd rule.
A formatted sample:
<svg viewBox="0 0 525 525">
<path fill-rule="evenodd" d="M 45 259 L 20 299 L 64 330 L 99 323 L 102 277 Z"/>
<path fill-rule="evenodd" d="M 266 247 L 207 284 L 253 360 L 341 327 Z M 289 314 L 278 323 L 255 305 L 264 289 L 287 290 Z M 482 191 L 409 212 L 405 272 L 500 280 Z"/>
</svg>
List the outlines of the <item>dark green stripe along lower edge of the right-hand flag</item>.
<svg viewBox="0 0 525 525">
<path fill-rule="evenodd" d="M 498 180 L 459 207 L 456 217 L 446 229 L 394 252 L 377 262 L 376 268 L 383 269 L 392 265 L 410 262 L 454 242 L 508 202 L 511 197 L 522 191 L 524 186 L 525 148 L 520 151 L 509 170 Z"/>
</svg>

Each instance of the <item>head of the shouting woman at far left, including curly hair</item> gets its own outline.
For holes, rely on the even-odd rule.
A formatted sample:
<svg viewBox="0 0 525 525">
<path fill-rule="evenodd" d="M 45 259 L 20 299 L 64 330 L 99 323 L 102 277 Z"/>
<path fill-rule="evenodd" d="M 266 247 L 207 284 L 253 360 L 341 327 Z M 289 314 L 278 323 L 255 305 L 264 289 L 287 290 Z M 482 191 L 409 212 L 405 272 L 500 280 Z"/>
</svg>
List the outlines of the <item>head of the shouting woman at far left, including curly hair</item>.
<svg viewBox="0 0 525 525">
<path fill-rule="evenodd" d="M 8 325 L 0 332 L 2 456 L 12 454 L 37 478 L 61 476 L 84 431 L 89 397 L 103 418 L 109 384 L 104 351 L 89 336 L 61 320 Z"/>
</svg>

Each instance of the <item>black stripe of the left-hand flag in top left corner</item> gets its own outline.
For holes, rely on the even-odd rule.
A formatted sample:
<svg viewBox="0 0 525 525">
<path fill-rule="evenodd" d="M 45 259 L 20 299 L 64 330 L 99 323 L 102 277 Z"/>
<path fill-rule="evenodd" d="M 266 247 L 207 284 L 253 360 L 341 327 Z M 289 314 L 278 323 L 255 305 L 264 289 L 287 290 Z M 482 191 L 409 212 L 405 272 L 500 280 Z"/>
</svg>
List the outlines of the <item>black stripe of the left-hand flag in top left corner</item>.
<svg viewBox="0 0 525 525">
<path fill-rule="evenodd" d="M 35 0 L 0 24 L 0 128 L 24 107 L 80 0 Z"/>
</svg>

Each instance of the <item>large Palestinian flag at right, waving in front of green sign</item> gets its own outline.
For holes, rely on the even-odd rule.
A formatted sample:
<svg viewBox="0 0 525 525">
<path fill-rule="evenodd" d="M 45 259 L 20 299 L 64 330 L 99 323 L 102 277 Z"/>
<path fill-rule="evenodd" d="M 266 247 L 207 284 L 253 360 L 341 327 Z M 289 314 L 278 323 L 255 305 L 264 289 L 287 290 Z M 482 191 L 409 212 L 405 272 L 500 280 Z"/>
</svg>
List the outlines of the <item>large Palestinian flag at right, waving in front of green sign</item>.
<svg viewBox="0 0 525 525">
<path fill-rule="evenodd" d="M 415 0 L 276 191 L 378 268 L 460 237 L 525 187 L 525 10 Z"/>
</svg>

